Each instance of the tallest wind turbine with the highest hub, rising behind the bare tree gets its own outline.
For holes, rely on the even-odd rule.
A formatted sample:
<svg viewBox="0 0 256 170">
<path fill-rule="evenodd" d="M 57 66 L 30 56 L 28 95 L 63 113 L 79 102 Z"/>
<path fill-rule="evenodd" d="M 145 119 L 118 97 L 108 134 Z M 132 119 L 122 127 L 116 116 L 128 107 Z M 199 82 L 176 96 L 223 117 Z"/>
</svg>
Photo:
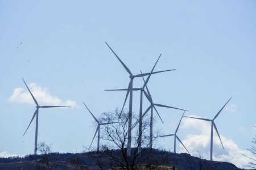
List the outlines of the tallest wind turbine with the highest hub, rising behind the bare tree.
<svg viewBox="0 0 256 170">
<path fill-rule="evenodd" d="M 108 43 L 106 43 L 106 45 L 108 45 Z M 108 45 L 109 46 L 109 45 Z M 110 46 L 109 46 L 110 48 Z M 112 48 L 110 48 L 110 50 L 112 50 Z M 121 62 L 121 64 L 123 65 L 123 67 L 125 67 L 125 70 L 130 74 L 130 83 L 128 86 L 128 90 L 127 90 L 127 94 L 126 94 L 126 98 L 125 101 L 127 99 L 127 96 L 130 93 L 130 101 L 129 101 L 129 120 L 128 120 L 128 143 L 127 143 L 127 156 L 131 155 L 131 117 L 132 117 L 132 112 L 133 112 L 133 79 L 135 77 L 141 77 L 141 76 L 146 76 L 146 75 L 151 75 L 151 74 L 155 74 L 155 73 L 160 73 L 163 71 L 156 71 L 156 72 L 152 72 L 152 73 L 144 73 L 144 74 L 137 74 L 137 75 L 133 75 L 131 73 L 131 71 L 128 69 L 128 67 L 125 65 L 125 63 L 123 63 L 121 61 L 121 59 L 117 56 L 117 54 L 115 54 L 115 52 L 112 50 L 112 52 L 114 53 L 115 57 L 117 57 L 117 59 L 119 60 L 119 62 Z M 171 70 L 166 70 L 166 71 L 171 71 Z M 122 111 L 121 111 L 122 113 Z"/>
</svg>

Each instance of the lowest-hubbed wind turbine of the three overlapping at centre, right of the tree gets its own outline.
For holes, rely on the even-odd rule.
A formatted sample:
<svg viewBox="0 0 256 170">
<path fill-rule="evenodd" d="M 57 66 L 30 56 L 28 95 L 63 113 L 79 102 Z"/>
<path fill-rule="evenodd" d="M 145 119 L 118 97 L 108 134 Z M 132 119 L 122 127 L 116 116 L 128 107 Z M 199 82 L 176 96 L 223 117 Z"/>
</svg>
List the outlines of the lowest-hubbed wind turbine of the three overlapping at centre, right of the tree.
<svg viewBox="0 0 256 170">
<path fill-rule="evenodd" d="M 143 77 L 142 77 L 143 78 Z M 143 78 L 144 80 L 144 78 Z M 145 81 L 145 80 L 144 80 Z M 147 86 L 146 86 L 147 88 Z M 150 101 L 150 107 L 147 108 L 147 110 L 144 112 L 144 114 L 142 115 L 142 117 L 151 109 L 151 115 L 150 115 L 150 148 L 152 148 L 152 138 L 153 138 L 153 108 L 155 109 L 156 113 L 158 113 L 158 111 L 156 110 L 155 106 L 158 106 L 158 107 L 164 107 L 164 108 L 172 108 L 172 109 L 179 109 L 179 108 L 175 108 L 175 107 L 170 107 L 170 106 L 167 106 L 167 105 L 163 105 L 163 104 L 155 104 L 153 103 L 153 100 L 152 100 L 152 97 L 150 95 L 150 92 L 148 91 L 148 88 L 147 88 L 147 93 L 144 91 L 144 94 L 145 96 L 147 97 L 148 101 Z M 186 111 L 186 110 L 183 110 L 183 109 L 179 109 L 181 111 Z M 162 118 L 160 117 L 159 113 L 158 113 L 158 116 L 160 118 L 160 120 L 162 121 L 163 123 L 163 120 Z"/>
</svg>

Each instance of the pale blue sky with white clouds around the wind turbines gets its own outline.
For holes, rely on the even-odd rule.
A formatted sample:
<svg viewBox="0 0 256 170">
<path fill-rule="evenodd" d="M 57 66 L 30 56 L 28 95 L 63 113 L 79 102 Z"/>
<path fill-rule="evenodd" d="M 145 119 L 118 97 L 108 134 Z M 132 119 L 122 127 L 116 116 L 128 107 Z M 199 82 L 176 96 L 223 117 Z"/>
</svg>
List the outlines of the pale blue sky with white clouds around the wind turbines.
<svg viewBox="0 0 256 170">
<path fill-rule="evenodd" d="M 35 121 L 22 137 L 35 112 L 22 78 L 39 104 L 72 105 L 39 110 L 38 141 L 52 143 L 56 152 L 90 145 L 93 117 L 82 102 L 96 117 L 114 111 L 125 92 L 104 90 L 129 83 L 108 42 L 133 74 L 149 72 L 160 53 L 155 71 L 176 69 L 151 76 L 155 103 L 211 119 L 233 97 L 214 121 L 225 150 L 214 138 L 213 159 L 241 167 L 246 160 L 240 153 L 248 154 L 256 132 L 255 8 L 255 1 L 1 1 L 0 154 L 34 151 Z M 134 79 L 134 87 L 142 85 Z M 138 100 L 134 92 L 135 114 Z M 174 133 L 183 112 L 159 113 L 164 124 L 155 117 L 155 128 Z M 209 159 L 209 128 L 208 122 L 184 118 L 177 135 L 189 152 L 199 150 Z M 173 141 L 159 139 L 170 150 Z"/>
</svg>

